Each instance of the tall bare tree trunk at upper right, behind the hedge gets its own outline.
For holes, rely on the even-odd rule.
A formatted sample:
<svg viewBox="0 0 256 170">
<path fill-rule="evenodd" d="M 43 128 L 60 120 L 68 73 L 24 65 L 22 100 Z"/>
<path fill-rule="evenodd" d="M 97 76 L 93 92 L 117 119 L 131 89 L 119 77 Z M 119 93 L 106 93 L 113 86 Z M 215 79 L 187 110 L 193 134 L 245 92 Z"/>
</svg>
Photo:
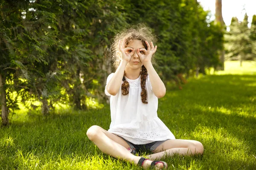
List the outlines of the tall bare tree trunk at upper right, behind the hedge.
<svg viewBox="0 0 256 170">
<path fill-rule="evenodd" d="M 221 0 L 215 0 L 215 23 L 219 23 L 221 25 L 222 28 L 224 28 L 224 20 L 222 17 L 222 3 Z M 220 70 L 224 70 L 224 54 L 225 51 L 222 50 L 221 51 L 221 55 L 219 57 L 220 61 L 221 61 L 221 67 Z"/>
</svg>

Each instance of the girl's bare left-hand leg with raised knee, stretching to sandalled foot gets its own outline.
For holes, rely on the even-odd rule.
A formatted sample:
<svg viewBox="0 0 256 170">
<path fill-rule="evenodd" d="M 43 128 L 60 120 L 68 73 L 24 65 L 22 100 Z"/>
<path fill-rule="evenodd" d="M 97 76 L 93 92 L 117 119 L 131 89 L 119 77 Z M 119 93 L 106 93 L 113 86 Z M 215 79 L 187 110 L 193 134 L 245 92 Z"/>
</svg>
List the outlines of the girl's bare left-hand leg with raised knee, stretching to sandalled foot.
<svg viewBox="0 0 256 170">
<path fill-rule="evenodd" d="M 111 155 L 114 158 L 129 161 L 131 164 L 138 164 L 140 156 L 134 156 L 131 154 L 127 150 L 129 145 L 119 136 L 109 133 L 107 130 L 96 125 L 90 127 L 86 134 L 102 152 Z M 150 160 L 145 160 L 143 168 L 148 168 L 151 162 L 152 161 Z M 156 170 L 161 170 L 163 169 L 163 164 L 156 164 L 155 168 Z"/>
</svg>

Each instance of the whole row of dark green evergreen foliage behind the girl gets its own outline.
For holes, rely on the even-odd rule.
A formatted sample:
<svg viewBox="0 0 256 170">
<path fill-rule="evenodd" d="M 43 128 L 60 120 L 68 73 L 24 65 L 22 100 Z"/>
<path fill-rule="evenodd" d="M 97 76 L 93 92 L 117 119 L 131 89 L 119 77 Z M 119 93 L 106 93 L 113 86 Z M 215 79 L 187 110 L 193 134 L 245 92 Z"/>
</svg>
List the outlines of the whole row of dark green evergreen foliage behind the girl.
<svg viewBox="0 0 256 170">
<path fill-rule="evenodd" d="M 111 39 L 130 23 L 145 23 L 159 38 L 157 71 L 165 81 L 218 65 L 221 28 L 206 22 L 195 1 L 0 2 L 0 74 L 9 110 L 18 108 L 17 96 L 31 109 L 28 101 L 40 101 L 44 114 L 56 103 L 84 109 L 87 97 L 105 100 Z"/>
</svg>

